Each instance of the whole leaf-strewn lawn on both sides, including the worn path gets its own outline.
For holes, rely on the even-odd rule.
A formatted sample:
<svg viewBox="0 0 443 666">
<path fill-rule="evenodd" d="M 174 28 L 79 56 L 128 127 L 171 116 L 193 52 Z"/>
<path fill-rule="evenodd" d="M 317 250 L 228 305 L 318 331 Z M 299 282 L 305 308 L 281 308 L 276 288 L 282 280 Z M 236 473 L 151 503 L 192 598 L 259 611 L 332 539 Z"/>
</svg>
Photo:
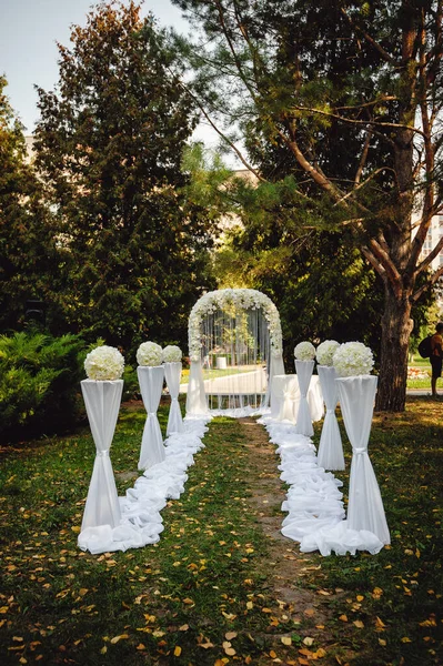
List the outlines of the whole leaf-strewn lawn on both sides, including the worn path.
<svg viewBox="0 0 443 666">
<path fill-rule="evenodd" d="M 167 406 L 159 415 L 164 432 Z M 424 397 L 374 416 L 392 536 L 376 556 L 301 555 L 279 534 L 284 485 L 253 422 L 210 424 L 159 544 L 101 556 L 77 547 L 89 428 L 2 448 L 0 664 L 443 664 L 442 416 Z M 138 476 L 144 418 L 140 404 L 122 406 L 119 494 Z"/>
</svg>

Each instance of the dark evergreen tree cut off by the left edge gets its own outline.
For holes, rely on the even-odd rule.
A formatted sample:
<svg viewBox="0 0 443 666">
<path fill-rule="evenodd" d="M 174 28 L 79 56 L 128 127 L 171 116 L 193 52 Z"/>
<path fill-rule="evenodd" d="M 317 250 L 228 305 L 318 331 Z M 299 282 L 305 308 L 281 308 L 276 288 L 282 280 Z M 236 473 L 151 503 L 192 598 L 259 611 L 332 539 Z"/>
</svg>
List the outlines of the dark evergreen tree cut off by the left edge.
<svg viewBox="0 0 443 666">
<path fill-rule="evenodd" d="M 23 127 L 14 117 L 0 78 L 0 331 L 26 322 L 28 300 L 44 302 L 47 324 L 60 326 L 58 286 L 62 253 L 53 216 L 29 163 Z"/>
</svg>

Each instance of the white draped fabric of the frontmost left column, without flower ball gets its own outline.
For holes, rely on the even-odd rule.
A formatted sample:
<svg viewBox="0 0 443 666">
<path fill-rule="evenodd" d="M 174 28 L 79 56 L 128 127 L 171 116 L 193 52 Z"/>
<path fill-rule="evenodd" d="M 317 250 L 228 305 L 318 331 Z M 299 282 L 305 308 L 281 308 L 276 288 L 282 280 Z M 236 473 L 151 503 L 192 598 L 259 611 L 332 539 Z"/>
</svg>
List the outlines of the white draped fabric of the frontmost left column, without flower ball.
<svg viewBox="0 0 443 666">
<path fill-rule="evenodd" d="M 115 527 L 120 522 L 119 497 L 109 450 L 119 416 L 123 380 L 83 380 L 81 391 L 97 455 L 79 535 L 80 547 L 85 529 L 91 534 L 105 525 Z"/>
</svg>

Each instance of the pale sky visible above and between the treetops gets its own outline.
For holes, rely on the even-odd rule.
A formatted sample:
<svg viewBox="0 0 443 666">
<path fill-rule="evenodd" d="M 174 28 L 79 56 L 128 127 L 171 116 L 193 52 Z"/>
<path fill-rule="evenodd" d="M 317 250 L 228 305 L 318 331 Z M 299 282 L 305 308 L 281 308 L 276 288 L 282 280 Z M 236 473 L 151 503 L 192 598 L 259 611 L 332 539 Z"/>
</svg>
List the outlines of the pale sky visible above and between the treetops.
<svg viewBox="0 0 443 666">
<path fill-rule="evenodd" d="M 0 73 L 6 74 L 6 94 L 31 134 L 39 117 L 34 84 L 53 90 L 58 81 L 57 42 L 69 47 L 70 26 L 85 26 L 92 0 L 0 0 Z M 161 27 L 173 26 L 187 33 L 189 24 L 170 0 L 145 0 L 143 16 L 149 11 Z M 197 139 L 208 145 L 215 137 L 204 125 Z"/>
</svg>

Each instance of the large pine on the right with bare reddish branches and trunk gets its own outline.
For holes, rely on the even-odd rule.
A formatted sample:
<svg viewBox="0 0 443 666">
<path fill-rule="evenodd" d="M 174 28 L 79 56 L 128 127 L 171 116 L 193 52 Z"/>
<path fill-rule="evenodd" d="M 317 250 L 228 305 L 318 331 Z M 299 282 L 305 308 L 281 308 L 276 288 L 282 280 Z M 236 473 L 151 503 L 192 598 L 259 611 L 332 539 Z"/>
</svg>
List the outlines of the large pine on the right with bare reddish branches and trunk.
<svg viewBox="0 0 443 666">
<path fill-rule="evenodd" d="M 174 3 L 202 28 L 181 40 L 202 113 L 261 182 L 292 181 L 276 223 L 352 231 L 380 276 L 376 407 L 403 411 L 412 307 L 443 274 L 443 238 L 421 256 L 443 201 L 442 0 Z"/>
</svg>

